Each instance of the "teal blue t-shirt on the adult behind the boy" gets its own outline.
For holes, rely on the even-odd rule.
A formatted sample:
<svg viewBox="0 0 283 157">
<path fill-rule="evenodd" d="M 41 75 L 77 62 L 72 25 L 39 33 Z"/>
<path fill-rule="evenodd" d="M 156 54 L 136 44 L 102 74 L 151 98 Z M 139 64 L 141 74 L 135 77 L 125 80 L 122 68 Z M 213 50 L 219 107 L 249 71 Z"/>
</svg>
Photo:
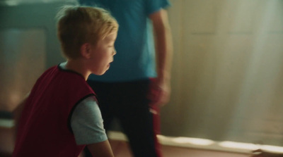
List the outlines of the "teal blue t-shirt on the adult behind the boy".
<svg viewBox="0 0 283 157">
<path fill-rule="evenodd" d="M 104 75 L 88 80 L 126 82 L 156 77 L 154 36 L 149 15 L 170 5 L 168 0 L 79 0 L 110 11 L 119 23 L 117 54 Z"/>
</svg>

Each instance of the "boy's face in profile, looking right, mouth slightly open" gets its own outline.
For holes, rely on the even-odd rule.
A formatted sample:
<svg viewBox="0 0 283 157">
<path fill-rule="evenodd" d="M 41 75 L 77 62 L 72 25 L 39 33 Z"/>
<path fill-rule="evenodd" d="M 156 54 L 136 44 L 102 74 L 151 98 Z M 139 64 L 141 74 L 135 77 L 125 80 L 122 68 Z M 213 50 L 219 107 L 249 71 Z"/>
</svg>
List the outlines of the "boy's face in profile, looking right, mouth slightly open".
<svg viewBox="0 0 283 157">
<path fill-rule="evenodd" d="M 103 75 L 110 68 L 113 56 L 116 54 L 114 43 L 117 31 L 108 34 L 104 39 L 100 39 L 96 46 L 92 46 L 91 72 L 96 75 Z"/>
</svg>

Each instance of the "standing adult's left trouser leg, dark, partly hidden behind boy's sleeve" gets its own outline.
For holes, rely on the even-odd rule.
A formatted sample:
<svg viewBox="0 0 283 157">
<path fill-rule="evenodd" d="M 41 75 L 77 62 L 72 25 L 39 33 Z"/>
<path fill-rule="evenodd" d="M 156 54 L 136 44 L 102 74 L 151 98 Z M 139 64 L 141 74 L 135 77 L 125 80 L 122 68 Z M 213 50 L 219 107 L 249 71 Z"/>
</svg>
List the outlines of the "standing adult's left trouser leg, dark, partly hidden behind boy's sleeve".
<svg viewBox="0 0 283 157">
<path fill-rule="evenodd" d="M 110 125 L 112 123 L 114 115 L 112 114 L 112 84 L 104 82 L 95 82 L 88 80 L 88 84 L 91 86 L 93 91 L 96 93 L 98 99 L 98 106 L 103 118 L 103 125 L 105 131 L 108 132 Z M 84 149 L 85 157 L 92 157 L 91 152 L 88 148 Z"/>
</svg>

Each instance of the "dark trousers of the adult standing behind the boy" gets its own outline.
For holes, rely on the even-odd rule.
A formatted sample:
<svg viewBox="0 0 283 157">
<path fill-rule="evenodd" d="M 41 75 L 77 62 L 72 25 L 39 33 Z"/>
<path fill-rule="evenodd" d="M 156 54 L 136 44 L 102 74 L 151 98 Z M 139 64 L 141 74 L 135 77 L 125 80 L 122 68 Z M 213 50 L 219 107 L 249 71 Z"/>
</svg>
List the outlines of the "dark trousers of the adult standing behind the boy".
<svg viewBox="0 0 283 157">
<path fill-rule="evenodd" d="M 150 80 L 116 83 L 88 80 L 98 96 L 105 130 L 108 131 L 113 118 L 117 118 L 135 157 L 161 156 L 155 128 L 158 120 L 151 113 L 147 98 L 150 83 Z"/>
</svg>

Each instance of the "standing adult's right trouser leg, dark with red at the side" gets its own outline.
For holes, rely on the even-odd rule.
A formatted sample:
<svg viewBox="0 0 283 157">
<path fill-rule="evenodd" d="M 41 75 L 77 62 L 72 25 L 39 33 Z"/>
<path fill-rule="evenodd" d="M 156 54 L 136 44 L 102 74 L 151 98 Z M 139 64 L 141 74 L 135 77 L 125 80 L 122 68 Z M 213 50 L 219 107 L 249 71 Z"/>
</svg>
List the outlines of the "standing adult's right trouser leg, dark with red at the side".
<svg viewBox="0 0 283 157">
<path fill-rule="evenodd" d="M 115 111 L 135 157 L 160 157 L 154 129 L 154 114 L 149 108 L 149 80 L 120 84 L 119 108 Z"/>
</svg>

